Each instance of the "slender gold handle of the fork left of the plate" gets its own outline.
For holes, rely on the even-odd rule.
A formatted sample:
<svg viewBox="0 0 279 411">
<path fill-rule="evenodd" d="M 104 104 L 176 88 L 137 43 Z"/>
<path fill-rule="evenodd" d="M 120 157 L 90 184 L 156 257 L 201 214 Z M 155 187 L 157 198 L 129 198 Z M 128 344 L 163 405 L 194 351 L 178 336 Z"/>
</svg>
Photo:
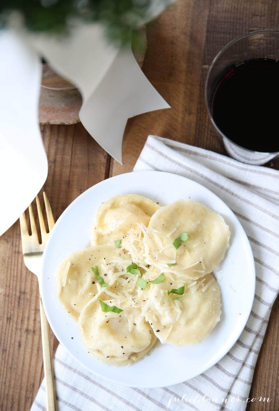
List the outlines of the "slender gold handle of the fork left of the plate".
<svg viewBox="0 0 279 411">
<path fill-rule="evenodd" d="M 40 294 L 40 316 L 41 316 L 41 333 L 43 345 L 43 371 L 45 374 L 46 385 L 46 411 L 57 411 L 55 385 L 53 378 L 53 363 L 51 356 L 51 345 L 49 335 L 49 325 L 46 314 L 43 309 L 43 302 Z"/>
</svg>

